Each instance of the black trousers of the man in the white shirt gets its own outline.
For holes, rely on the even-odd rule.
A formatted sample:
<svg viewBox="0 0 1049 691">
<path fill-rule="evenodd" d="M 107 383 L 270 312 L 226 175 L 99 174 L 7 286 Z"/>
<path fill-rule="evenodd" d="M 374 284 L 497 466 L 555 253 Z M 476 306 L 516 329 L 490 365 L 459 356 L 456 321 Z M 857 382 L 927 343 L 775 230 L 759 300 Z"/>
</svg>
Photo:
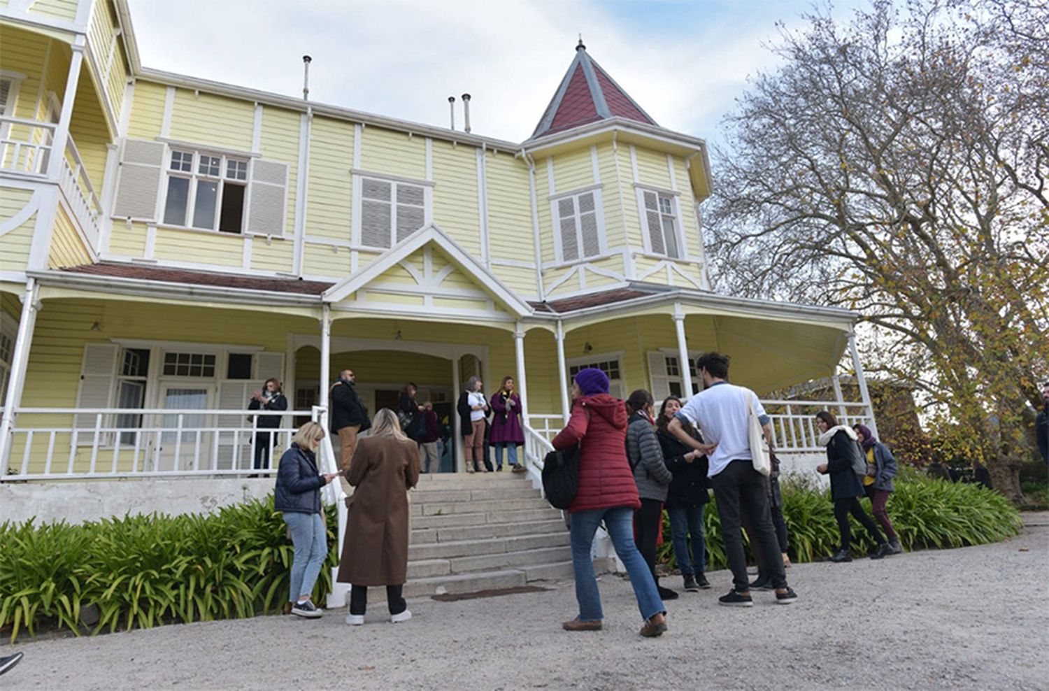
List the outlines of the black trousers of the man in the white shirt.
<svg viewBox="0 0 1049 691">
<path fill-rule="evenodd" d="M 779 544 L 772 527 L 769 513 L 769 495 L 764 475 L 754 470 L 747 460 L 733 460 L 722 472 L 710 478 L 721 518 L 722 538 L 725 542 L 725 557 L 732 570 L 732 585 L 736 592 L 750 589 L 747 578 L 747 555 L 743 550 L 743 534 L 740 527 L 745 516 L 751 549 L 757 563 L 768 569 L 773 587 L 787 587 L 787 573 L 784 570 Z"/>
</svg>

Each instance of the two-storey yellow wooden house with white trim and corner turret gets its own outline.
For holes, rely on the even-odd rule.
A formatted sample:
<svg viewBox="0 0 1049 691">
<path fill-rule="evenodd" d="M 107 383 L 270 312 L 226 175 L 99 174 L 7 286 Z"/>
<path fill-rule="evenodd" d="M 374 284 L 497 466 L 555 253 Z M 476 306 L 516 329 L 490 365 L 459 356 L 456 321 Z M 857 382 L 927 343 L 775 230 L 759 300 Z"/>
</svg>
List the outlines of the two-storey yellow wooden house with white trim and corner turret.
<svg viewBox="0 0 1049 691">
<path fill-rule="evenodd" d="M 0 0 L 0 481 L 242 473 L 270 376 L 290 430 L 346 367 L 372 411 L 509 374 L 534 461 L 582 367 L 657 398 L 712 349 L 764 397 L 833 375 L 856 315 L 713 291 L 706 144 L 565 58 L 507 142 L 144 67 L 124 0 Z M 769 401 L 778 446 L 863 392 Z"/>
</svg>

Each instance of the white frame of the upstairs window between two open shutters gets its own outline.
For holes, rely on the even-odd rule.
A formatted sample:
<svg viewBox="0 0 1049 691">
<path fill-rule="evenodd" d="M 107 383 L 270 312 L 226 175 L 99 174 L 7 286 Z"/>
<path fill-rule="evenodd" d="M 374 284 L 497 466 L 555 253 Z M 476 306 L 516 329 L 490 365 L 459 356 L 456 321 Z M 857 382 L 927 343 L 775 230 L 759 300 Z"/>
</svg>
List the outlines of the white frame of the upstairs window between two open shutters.
<svg viewBox="0 0 1049 691">
<path fill-rule="evenodd" d="M 173 170 L 172 169 L 172 157 L 178 152 L 183 155 L 190 154 L 192 156 L 190 163 L 190 170 Z M 206 173 L 200 173 L 200 157 L 209 156 L 211 158 L 218 158 L 218 174 L 210 175 Z M 229 165 L 231 163 L 244 164 L 244 177 L 228 177 L 227 172 L 229 170 Z M 254 166 L 254 158 L 249 155 L 234 155 L 221 151 L 214 151 L 210 149 L 196 149 L 193 147 L 183 147 L 177 145 L 167 145 L 164 152 L 164 176 L 160 183 L 160 199 L 159 199 L 159 214 L 158 220 L 159 224 L 165 228 L 179 228 L 188 229 L 193 231 L 207 231 L 209 233 L 216 233 L 219 235 L 228 235 L 231 237 L 244 237 L 249 235 L 248 233 L 248 209 L 249 209 L 249 187 L 252 179 L 252 166 Z M 169 222 L 167 219 L 167 209 L 168 209 L 168 191 L 171 187 L 171 178 L 177 177 L 181 179 L 189 180 L 189 191 L 186 196 L 186 212 L 184 216 L 183 223 Z M 204 180 L 207 182 L 218 182 L 218 192 L 215 196 L 215 217 L 212 220 L 211 228 L 205 228 L 200 225 L 193 224 L 193 216 L 196 214 L 196 193 L 199 182 Z M 236 233 L 231 233 L 228 231 L 218 230 L 218 224 L 222 218 L 222 196 L 226 191 L 227 181 L 234 185 L 243 185 L 244 188 L 244 198 L 241 202 L 240 210 L 240 230 Z"/>
</svg>

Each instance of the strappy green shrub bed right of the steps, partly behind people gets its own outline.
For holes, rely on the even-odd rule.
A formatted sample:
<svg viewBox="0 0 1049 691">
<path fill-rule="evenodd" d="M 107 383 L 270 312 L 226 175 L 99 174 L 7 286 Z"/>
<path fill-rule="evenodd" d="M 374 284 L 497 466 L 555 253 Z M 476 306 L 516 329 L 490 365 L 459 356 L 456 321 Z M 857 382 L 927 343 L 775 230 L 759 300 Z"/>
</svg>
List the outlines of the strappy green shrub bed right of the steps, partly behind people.
<svg viewBox="0 0 1049 691">
<path fill-rule="evenodd" d="M 822 559 L 839 543 L 838 525 L 830 493 L 805 478 L 791 477 L 780 483 L 784 520 L 790 536 L 791 558 L 797 562 Z M 861 500 L 870 512 L 870 503 Z M 961 547 L 998 542 L 1020 533 L 1023 521 L 1016 509 L 998 492 L 979 484 L 944 482 L 924 477 L 898 478 L 896 492 L 889 500 L 889 517 L 906 549 Z M 675 566 L 670 544 L 670 522 L 663 517 L 664 542 L 658 558 Z M 850 517 L 853 550 L 863 554 L 874 541 L 854 518 Z M 726 568 L 721 523 L 713 502 L 704 515 L 707 531 L 707 569 Z M 880 527 L 880 526 L 879 526 Z M 746 532 L 744 544 L 747 545 Z"/>
</svg>

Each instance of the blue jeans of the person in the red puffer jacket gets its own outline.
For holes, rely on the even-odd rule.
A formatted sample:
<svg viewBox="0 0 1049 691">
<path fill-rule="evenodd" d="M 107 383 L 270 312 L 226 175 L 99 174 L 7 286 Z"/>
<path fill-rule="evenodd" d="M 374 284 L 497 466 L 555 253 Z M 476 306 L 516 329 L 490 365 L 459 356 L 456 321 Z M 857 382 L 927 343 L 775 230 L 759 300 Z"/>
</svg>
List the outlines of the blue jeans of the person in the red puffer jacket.
<svg viewBox="0 0 1049 691">
<path fill-rule="evenodd" d="M 595 509 L 572 514 L 572 566 L 576 576 L 576 601 L 579 603 L 579 619 L 584 622 L 601 621 L 601 593 L 597 589 L 597 578 L 594 576 L 594 561 L 591 559 L 591 546 L 594 544 L 594 534 L 604 520 L 604 525 L 612 537 L 616 554 L 626 566 L 634 586 L 634 596 L 638 599 L 638 609 L 645 620 L 665 613 L 666 607 L 660 600 L 648 565 L 634 544 L 634 510 L 629 506 L 613 509 Z"/>
</svg>

